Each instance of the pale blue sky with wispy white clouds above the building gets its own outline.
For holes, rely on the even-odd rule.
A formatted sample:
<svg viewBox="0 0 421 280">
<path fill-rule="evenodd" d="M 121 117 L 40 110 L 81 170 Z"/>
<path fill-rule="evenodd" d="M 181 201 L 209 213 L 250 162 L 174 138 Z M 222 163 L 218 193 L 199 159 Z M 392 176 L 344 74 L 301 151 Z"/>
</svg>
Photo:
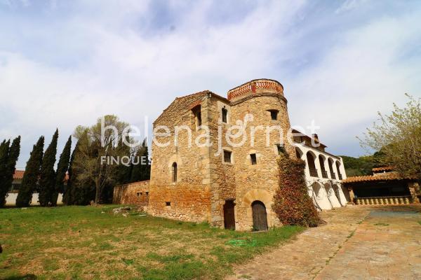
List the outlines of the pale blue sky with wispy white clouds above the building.
<svg viewBox="0 0 421 280">
<path fill-rule="evenodd" d="M 336 155 L 405 93 L 421 97 L 421 1 L 0 0 L 0 139 L 106 114 L 140 128 L 175 97 L 279 80 L 290 123 Z"/>
</svg>

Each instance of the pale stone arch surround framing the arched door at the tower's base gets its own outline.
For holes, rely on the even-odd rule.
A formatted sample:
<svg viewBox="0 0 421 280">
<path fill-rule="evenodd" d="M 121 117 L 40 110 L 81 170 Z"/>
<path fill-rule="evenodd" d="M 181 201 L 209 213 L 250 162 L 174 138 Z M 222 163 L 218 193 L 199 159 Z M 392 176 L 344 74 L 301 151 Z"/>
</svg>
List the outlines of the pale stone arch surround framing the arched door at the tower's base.
<svg viewBox="0 0 421 280">
<path fill-rule="evenodd" d="M 243 200 L 241 202 L 241 208 L 246 209 L 246 228 L 253 228 L 253 210 L 251 208 L 251 204 L 256 200 L 265 204 L 268 227 L 270 228 L 275 225 L 279 225 L 279 220 L 276 220 L 276 215 L 272 211 L 273 194 L 269 193 L 267 190 L 255 188 L 253 190 L 249 190 L 246 195 L 243 196 Z"/>
</svg>

